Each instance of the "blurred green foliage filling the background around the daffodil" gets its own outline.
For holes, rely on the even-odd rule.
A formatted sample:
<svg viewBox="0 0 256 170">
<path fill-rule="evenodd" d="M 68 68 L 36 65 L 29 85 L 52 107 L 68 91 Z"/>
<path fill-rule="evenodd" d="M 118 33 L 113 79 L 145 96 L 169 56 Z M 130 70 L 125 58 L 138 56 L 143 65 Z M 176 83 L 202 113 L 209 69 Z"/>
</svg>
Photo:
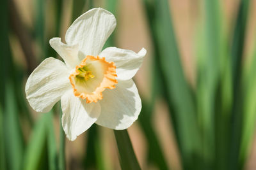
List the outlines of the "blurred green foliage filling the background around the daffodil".
<svg viewBox="0 0 256 170">
<path fill-rule="evenodd" d="M 197 57 L 196 85 L 191 87 L 180 62 L 170 2 L 140 1 L 152 39 L 153 61 L 148 73 L 152 75 L 150 99 L 142 96 L 143 108 L 138 121 L 148 143 L 147 166 L 175 167 L 169 167 L 164 152 L 172 151 L 163 150 L 152 123 L 156 101 L 162 98 L 168 105 L 182 169 L 244 169 L 252 148 L 256 120 L 256 50 L 251 57 L 244 56 L 251 2 L 239 1 L 237 14 L 232 16 L 235 22 L 231 31 L 227 31 L 222 1 L 197 2 L 202 3 L 202 16 L 193 42 Z M 0 170 L 67 168 L 65 133 L 60 122 L 60 138 L 57 140 L 53 123 L 54 117 L 62 114 L 60 104 L 35 121 L 26 105 L 24 81 L 38 65 L 35 56 L 41 56 L 40 60 L 56 56 L 48 40 L 52 35 L 61 36 L 63 6 L 68 1 L 38 0 L 33 3 L 35 17 L 32 30 L 29 30 L 22 22 L 15 1 L 0 1 Z M 106 0 L 104 3 L 102 8 L 118 18 L 120 1 Z M 81 13 L 93 8 L 95 1 L 73 0 L 70 4 L 73 22 Z M 54 23 L 51 23 L 54 30 L 51 31 L 45 30 L 48 6 L 54 6 Z M 19 40 L 26 57 L 26 69 L 13 62 L 10 36 Z M 115 39 L 114 32 L 105 47 L 117 46 Z M 32 41 L 40 48 L 36 54 L 31 50 Z M 28 124 L 29 138 L 21 123 Z M 93 125 L 86 135 L 86 152 L 81 166 L 113 169 L 104 158 L 99 127 Z M 115 138 L 120 167 L 140 169 L 127 131 L 115 131 Z"/>
</svg>

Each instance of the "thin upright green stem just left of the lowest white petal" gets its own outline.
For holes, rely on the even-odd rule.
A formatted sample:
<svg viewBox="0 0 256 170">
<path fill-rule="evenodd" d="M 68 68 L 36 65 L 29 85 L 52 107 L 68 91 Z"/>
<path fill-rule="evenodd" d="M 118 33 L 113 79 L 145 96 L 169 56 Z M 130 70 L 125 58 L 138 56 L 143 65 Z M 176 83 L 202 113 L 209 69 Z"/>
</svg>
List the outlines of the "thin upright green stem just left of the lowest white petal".
<svg viewBox="0 0 256 170">
<path fill-rule="evenodd" d="M 66 169 L 65 164 L 65 132 L 62 129 L 61 124 L 62 111 L 60 111 L 60 151 L 59 151 L 59 169 Z"/>
</svg>

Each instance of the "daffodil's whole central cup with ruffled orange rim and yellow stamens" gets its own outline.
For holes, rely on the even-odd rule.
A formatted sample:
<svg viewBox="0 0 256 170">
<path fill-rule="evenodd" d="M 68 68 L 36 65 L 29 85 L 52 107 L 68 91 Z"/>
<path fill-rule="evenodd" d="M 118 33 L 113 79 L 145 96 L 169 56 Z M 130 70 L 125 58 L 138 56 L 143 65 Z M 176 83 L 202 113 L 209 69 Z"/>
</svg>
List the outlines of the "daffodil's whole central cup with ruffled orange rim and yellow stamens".
<svg viewBox="0 0 256 170">
<path fill-rule="evenodd" d="M 86 99 L 86 103 L 92 103 L 102 99 L 105 89 L 115 88 L 116 77 L 114 62 L 108 62 L 104 57 L 87 55 L 70 74 L 69 80 L 74 95 Z"/>
</svg>

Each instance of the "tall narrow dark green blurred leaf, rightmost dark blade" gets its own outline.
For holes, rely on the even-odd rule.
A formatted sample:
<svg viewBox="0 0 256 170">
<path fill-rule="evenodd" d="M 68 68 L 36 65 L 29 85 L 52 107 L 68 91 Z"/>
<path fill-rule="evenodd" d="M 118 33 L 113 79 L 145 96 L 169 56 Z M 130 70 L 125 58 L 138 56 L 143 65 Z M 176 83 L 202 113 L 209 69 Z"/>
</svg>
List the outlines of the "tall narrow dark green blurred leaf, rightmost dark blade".
<svg viewBox="0 0 256 170">
<path fill-rule="evenodd" d="M 239 162 L 239 152 L 241 146 L 241 129 L 243 127 L 243 110 L 244 110 L 244 91 L 241 83 L 242 58 L 244 51 L 244 36 L 246 32 L 246 23 L 250 0 L 240 1 L 237 13 L 234 36 L 231 48 L 231 70 L 233 83 L 233 107 L 232 107 L 232 132 L 230 145 L 230 169 L 239 169 L 244 162 Z"/>
</svg>

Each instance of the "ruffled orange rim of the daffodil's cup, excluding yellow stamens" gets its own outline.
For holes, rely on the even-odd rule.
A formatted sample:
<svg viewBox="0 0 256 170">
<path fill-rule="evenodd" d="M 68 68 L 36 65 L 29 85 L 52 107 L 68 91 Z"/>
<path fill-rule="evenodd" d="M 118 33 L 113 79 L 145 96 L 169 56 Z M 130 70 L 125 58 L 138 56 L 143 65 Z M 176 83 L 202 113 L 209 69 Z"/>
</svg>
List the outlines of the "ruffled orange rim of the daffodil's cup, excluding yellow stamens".
<svg viewBox="0 0 256 170">
<path fill-rule="evenodd" d="M 77 89 L 77 85 L 76 85 L 76 76 L 79 76 L 79 74 L 81 74 L 81 72 L 79 72 L 79 69 L 83 68 L 84 66 L 86 66 L 86 62 L 90 61 L 91 63 L 93 63 L 94 61 L 97 62 L 97 64 L 100 66 L 100 69 L 103 71 L 102 73 L 102 80 L 100 80 L 99 85 L 97 85 L 97 87 L 93 88 L 92 91 L 88 92 L 88 90 L 79 90 Z M 89 72 L 89 71 L 88 71 Z M 91 71 L 90 71 L 91 72 Z M 97 75 L 94 75 L 95 73 L 92 72 L 92 75 L 89 75 L 90 78 L 94 78 Z M 87 74 L 86 74 L 87 75 Z M 114 64 L 114 62 L 108 62 L 105 60 L 104 57 L 93 57 L 91 55 L 87 55 L 83 61 L 81 62 L 81 64 L 79 66 L 76 66 L 76 70 L 74 71 L 74 73 L 70 74 L 69 76 L 69 80 L 70 83 L 72 85 L 72 89 L 74 91 L 74 95 L 76 97 L 81 97 L 81 99 L 86 99 L 86 103 L 92 103 L 92 102 L 97 102 L 98 100 L 101 100 L 102 97 L 102 92 L 105 89 L 114 89 L 115 88 L 115 84 L 117 84 L 117 80 L 116 80 L 117 74 L 116 74 L 116 66 Z M 86 84 L 86 77 L 84 77 L 85 80 L 83 80 Z M 92 81 L 92 80 L 91 80 Z M 84 83 L 83 82 L 83 83 Z M 89 81 L 89 83 L 93 83 Z M 88 85 L 90 86 L 90 84 Z"/>
</svg>

